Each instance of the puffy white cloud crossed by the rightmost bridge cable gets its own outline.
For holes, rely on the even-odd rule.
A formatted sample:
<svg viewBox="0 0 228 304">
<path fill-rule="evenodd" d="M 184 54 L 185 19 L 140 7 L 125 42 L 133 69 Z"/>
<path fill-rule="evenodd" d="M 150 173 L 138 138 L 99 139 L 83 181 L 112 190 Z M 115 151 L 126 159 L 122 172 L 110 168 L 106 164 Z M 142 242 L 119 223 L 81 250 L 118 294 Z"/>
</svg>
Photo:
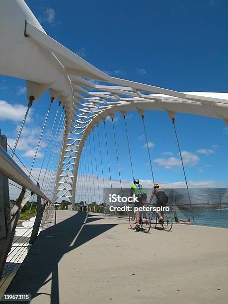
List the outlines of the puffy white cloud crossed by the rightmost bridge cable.
<svg viewBox="0 0 228 304">
<path fill-rule="evenodd" d="M 184 164 L 189 166 L 194 166 L 200 161 L 198 155 L 188 151 L 182 152 L 182 158 Z M 157 163 L 160 166 L 163 166 L 165 169 L 181 166 L 181 159 L 177 157 L 155 158 L 153 159 L 153 162 Z"/>
</svg>

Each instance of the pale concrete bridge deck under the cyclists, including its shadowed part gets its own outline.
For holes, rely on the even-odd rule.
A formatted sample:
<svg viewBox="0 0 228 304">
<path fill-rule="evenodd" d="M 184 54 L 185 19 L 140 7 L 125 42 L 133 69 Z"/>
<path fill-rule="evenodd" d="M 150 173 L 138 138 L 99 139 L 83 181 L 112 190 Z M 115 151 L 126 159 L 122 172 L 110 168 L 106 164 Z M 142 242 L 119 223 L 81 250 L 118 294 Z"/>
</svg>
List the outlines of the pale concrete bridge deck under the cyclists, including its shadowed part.
<svg viewBox="0 0 228 304">
<path fill-rule="evenodd" d="M 57 211 L 7 293 L 31 303 L 228 303 L 228 229 L 174 225 L 151 234 L 125 220 Z"/>
</svg>

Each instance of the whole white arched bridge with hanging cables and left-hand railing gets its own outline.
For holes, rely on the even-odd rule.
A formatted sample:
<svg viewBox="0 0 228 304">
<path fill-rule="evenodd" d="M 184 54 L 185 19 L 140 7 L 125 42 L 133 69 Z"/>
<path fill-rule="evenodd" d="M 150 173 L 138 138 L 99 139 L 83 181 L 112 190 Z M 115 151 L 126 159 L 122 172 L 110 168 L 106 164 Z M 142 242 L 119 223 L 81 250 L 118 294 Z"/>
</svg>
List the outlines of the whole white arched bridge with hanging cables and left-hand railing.
<svg viewBox="0 0 228 304">
<path fill-rule="evenodd" d="M 187 176 L 175 128 L 175 115 L 180 112 L 213 117 L 224 120 L 228 126 L 228 93 L 178 92 L 152 84 L 108 76 L 50 37 L 23 0 L 0 1 L 0 74 L 26 80 L 28 101 L 27 111 L 14 146 L 10 147 L 4 136 L 1 136 L 0 141 L 0 274 L 7 255 L 12 250 L 12 237 L 18 224 L 20 210 L 31 198 L 33 200 L 34 196 L 37 197 L 37 216 L 30 230 L 30 244 L 33 244 L 40 228 L 47 228 L 55 221 L 55 202 L 64 199 L 70 201 L 73 210 L 76 210 L 76 205 L 84 199 L 87 203 L 91 202 L 91 205 L 92 202 L 98 205 L 103 202 L 105 175 L 110 178 L 108 186 L 113 187 L 109 160 L 106 174 L 101 153 L 101 150 L 105 151 L 109 159 L 105 123 L 107 117 L 110 117 L 112 122 L 117 173 L 122 190 L 118 143 L 113 123 L 115 115 L 121 113 L 124 120 L 123 136 L 126 136 L 128 144 L 127 153 L 133 179 L 136 176 L 126 117 L 129 111 L 137 111 L 141 116 L 153 185 L 154 172 L 147 137 L 148 124 L 145 123 L 146 111 L 167 113 L 167 119 L 174 127 L 190 204 Z M 34 103 L 39 103 L 39 98 L 47 94 L 47 91 L 49 99 L 44 105 L 46 116 L 43 117 L 39 139 L 35 143 L 31 167 L 27 168 L 18 157 L 17 148 L 30 109 L 33 109 Z M 48 123 L 52 126 L 49 131 Z M 103 146 L 100 141 L 100 128 L 104 135 Z M 4 133 L 4 130 L 1 132 Z M 37 155 L 45 135 L 48 138 L 47 147 L 39 171 L 34 177 Z M 98 149 L 95 149 L 95 142 Z M 84 157 L 81 158 L 83 153 Z M 103 186 L 98 182 L 98 166 L 101 168 Z M 9 205 L 8 179 L 20 189 L 13 207 Z M 95 184 L 98 186 L 98 193 Z M 32 204 L 29 214 L 31 209 Z M 50 218 L 48 222 L 47 219 Z M 83 221 L 84 219 L 80 219 L 79 223 L 82 225 Z"/>
</svg>

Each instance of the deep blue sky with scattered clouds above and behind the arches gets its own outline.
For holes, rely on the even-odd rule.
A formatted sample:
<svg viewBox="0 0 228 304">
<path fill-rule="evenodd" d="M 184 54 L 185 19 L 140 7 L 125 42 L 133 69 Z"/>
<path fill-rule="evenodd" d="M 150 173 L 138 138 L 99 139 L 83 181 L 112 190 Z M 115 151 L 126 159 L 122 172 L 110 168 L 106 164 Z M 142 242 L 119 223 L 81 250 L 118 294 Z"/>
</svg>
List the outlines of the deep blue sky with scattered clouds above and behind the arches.
<svg viewBox="0 0 228 304">
<path fill-rule="evenodd" d="M 63 1 L 27 0 L 26 3 L 51 37 L 110 76 L 177 91 L 228 91 L 228 1 L 68 0 L 63 5 Z M 1 105 L 4 101 L 4 108 L 9 112 L 12 110 L 11 113 L 15 104 L 26 106 L 24 87 L 25 80 L 0 76 Z M 34 150 L 34 141 L 38 139 L 48 106 L 46 92 L 32 106 L 30 120 L 26 124 L 24 139 L 30 136 L 29 147 L 26 151 L 23 147 L 18 149 L 18 155 L 28 166 L 32 158 L 26 157 L 25 153 Z M 56 107 L 57 104 L 54 104 L 52 117 Z M 16 136 L 23 110 L 18 107 L 13 120 L 0 114 L 0 128 L 8 136 L 9 143 Z M 184 178 L 174 131 L 167 114 L 148 111 L 145 124 L 149 142 L 152 143 L 150 152 L 155 180 L 182 182 Z M 51 125 L 50 120 L 48 130 Z M 139 114 L 128 113 L 127 125 L 135 175 L 140 179 L 151 179 Z M 225 123 L 218 119 L 178 113 L 176 127 L 188 180 L 203 181 L 203 185 L 208 186 L 227 186 L 228 129 Z M 121 177 L 130 181 L 127 142 L 120 115 L 116 116 L 115 130 Z M 118 179 L 109 121 L 107 131 L 111 173 L 114 179 Z M 100 133 L 105 177 L 108 178 L 102 124 Z M 40 158 L 35 163 L 37 168 L 45 150 L 46 137 L 39 151 Z M 101 176 L 101 169 L 98 171 Z"/>
</svg>

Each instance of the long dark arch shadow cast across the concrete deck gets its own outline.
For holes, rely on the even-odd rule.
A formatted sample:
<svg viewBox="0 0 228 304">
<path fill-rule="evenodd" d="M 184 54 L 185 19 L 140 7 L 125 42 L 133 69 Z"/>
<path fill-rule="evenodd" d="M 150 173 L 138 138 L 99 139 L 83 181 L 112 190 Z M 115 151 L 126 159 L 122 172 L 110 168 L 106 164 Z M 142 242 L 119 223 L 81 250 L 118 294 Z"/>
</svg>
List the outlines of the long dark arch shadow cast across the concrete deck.
<svg viewBox="0 0 228 304">
<path fill-rule="evenodd" d="M 55 226 L 43 230 L 24 259 L 6 293 L 28 293 L 31 294 L 31 299 L 33 299 L 40 295 L 38 290 L 51 281 L 50 303 L 59 304 L 58 263 L 63 255 L 117 225 L 89 224 L 83 226 L 83 224 L 102 219 L 88 216 L 90 218 L 86 219 L 86 213 L 77 213 Z"/>
</svg>

